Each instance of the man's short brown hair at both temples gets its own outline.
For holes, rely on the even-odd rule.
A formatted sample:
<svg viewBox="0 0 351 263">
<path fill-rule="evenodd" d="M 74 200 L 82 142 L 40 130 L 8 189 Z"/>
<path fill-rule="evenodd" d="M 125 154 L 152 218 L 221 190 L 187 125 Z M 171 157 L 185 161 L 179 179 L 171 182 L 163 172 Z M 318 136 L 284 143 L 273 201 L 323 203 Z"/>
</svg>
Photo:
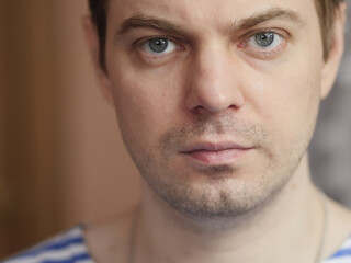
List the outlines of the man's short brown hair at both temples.
<svg viewBox="0 0 351 263">
<path fill-rule="evenodd" d="M 315 0 L 319 19 L 324 59 L 328 60 L 329 50 L 332 43 L 332 25 L 337 9 L 343 0 Z M 97 26 L 100 43 L 100 65 L 105 68 L 105 42 L 106 42 L 106 14 L 109 0 L 89 0 L 91 19 Z"/>
</svg>

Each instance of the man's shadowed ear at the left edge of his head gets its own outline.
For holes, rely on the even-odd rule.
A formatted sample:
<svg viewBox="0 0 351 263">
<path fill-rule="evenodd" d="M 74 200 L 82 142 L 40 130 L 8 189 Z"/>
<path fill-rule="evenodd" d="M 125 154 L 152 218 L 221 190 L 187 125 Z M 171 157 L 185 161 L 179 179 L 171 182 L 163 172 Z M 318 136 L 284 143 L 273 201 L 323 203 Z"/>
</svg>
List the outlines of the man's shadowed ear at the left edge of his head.
<svg viewBox="0 0 351 263">
<path fill-rule="evenodd" d="M 95 24 L 91 21 L 90 15 L 84 15 L 82 18 L 83 30 L 86 35 L 86 41 L 92 57 L 95 73 L 99 81 L 99 87 L 105 100 L 109 104 L 114 105 L 113 92 L 111 88 L 111 82 L 107 76 L 106 69 L 101 67 L 100 64 L 100 43 L 99 35 Z"/>
</svg>

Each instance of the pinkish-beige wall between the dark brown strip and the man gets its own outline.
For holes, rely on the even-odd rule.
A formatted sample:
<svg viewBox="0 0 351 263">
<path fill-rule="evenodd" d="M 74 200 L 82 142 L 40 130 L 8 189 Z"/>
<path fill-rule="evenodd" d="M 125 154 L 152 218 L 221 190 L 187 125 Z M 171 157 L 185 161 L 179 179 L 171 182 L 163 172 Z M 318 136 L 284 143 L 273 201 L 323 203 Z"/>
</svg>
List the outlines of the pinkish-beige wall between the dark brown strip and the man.
<svg viewBox="0 0 351 263">
<path fill-rule="evenodd" d="M 59 156 L 65 222 L 95 219 L 136 203 L 138 179 L 121 141 L 114 110 L 97 88 L 83 39 L 86 0 L 60 0 Z M 65 15 L 59 19 L 59 15 Z"/>
</svg>

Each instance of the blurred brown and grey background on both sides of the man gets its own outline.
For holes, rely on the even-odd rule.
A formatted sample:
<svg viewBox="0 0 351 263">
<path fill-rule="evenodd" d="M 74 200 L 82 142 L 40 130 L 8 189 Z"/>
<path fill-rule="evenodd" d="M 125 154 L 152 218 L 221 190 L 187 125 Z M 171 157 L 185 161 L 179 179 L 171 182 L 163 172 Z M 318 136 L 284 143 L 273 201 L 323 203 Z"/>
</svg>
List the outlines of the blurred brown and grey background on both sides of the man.
<svg viewBox="0 0 351 263">
<path fill-rule="evenodd" d="M 97 88 L 87 13 L 87 0 L 0 0 L 0 258 L 139 198 L 114 111 Z M 314 181 L 351 207 L 347 23 L 346 56 L 321 104 L 310 162 Z"/>
</svg>

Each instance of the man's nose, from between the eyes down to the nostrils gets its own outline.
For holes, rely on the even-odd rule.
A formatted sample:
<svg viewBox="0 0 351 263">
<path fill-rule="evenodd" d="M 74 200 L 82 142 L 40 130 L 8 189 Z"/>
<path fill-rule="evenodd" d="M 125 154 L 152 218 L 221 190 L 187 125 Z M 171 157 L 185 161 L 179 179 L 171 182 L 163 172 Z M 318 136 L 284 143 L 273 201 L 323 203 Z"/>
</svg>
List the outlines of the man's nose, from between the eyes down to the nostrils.
<svg viewBox="0 0 351 263">
<path fill-rule="evenodd" d="M 240 70 L 226 48 L 207 46 L 194 55 L 186 93 L 186 107 L 193 112 L 219 113 L 244 105 Z"/>
</svg>

